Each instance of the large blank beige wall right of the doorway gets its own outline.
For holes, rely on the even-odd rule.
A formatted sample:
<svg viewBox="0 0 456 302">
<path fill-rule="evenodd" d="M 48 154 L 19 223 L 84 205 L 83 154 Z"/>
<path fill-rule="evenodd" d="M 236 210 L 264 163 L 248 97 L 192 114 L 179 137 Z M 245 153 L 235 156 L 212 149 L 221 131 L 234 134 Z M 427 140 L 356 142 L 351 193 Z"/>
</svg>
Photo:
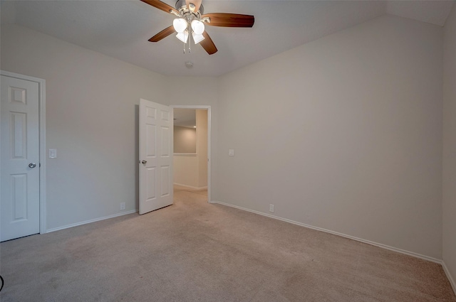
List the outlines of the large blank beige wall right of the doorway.
<svg viewBox="0 0 456 302">
<path fill-rule="evenodd" d="M 219 89 L 214 199 L 441 259 L 440 26 L 375 18 Z"/>
</svg>

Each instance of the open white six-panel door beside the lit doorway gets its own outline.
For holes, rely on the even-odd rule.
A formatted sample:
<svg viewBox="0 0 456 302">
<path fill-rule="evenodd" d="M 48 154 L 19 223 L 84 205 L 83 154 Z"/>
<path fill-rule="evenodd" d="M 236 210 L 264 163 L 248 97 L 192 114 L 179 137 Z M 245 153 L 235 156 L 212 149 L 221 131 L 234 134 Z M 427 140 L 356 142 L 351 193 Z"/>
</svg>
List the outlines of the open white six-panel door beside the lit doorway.
<svg viewBox="0 0 456 302">
<path fill-rule="evenodd" d="M 172 109 L 140 100 L 140 214 L 172 205 Z"/>
</svg>

